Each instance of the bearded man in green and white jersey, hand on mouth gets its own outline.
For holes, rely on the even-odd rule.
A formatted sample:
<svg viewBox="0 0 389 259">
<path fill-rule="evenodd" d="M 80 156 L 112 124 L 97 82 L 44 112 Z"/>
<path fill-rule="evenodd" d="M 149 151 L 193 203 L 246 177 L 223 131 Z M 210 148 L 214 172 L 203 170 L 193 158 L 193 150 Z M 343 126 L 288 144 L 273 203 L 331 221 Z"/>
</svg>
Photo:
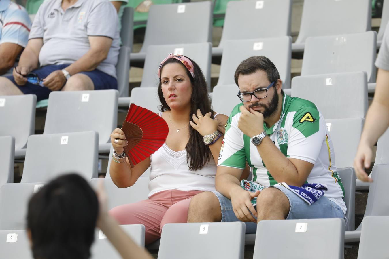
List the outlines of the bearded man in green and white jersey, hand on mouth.
<svg viewBox="0 0 389 259">
<path fill-rule="evenodd" d="M 188 222 L 240 220 L 247 222 L 246 233 L 255 233 L 261 220 L 344 218 L 344 190 L 333 145 L 316 106 L 284 94 L 277 68 L 264 56 L 242 61 L 235 82 L 242 103 L 227 121 L 216 191 L 192 198 Z M 262 191 L 249 192 L 240 186 L 246 163 L 252 168 L 252 180 L 265 186 Z M 277 183 L 326 184 L 328 190 L 308 205 Z M 256 208 L 251 203 L 255 197 Z"/>
</svg>

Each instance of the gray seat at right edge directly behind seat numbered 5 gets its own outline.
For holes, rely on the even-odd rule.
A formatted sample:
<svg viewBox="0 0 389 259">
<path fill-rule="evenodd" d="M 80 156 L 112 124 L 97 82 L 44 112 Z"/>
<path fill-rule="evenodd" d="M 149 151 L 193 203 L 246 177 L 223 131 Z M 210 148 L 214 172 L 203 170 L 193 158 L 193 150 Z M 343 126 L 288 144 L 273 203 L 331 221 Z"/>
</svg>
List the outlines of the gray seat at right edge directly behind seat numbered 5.
<svg viewBox="0 0 389 259">
<path fill-rule="evenodd" d="M 364 217 L 389 216 L 389 200 L 387 198 L 387 185 L 389 184 L 389 165 L 374 165 Z M 359 242 L 363 221 L 354 231 L 345 232 L 345 242 Z"/>
</svg>

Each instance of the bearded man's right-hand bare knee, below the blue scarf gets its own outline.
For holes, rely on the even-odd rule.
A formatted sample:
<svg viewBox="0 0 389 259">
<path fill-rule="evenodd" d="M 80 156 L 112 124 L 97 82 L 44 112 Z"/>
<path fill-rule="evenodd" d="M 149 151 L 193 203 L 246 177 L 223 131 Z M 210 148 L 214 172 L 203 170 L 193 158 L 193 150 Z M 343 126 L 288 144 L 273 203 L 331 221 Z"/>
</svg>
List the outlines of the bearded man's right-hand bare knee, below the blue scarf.
<svg viewBox="0 0 389 259">
<path fill-rule="evenodd" d="M 266 188 L 257 197 L 257 222 L 286 219 L 290 210 L 289 199 L 277 188 Z"/>
</svg>

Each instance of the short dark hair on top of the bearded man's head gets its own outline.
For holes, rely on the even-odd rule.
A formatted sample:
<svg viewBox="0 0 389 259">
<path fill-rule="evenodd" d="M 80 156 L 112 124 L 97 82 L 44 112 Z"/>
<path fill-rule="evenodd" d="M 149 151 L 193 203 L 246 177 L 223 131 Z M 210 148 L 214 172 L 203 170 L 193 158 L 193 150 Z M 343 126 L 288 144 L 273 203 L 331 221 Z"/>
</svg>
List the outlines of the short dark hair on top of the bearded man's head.
<svg viewBox="0 0 389 259">
<path fill-rule="evenodd" d="M 252 56 L 242 61 L 239 64 L 237 70 L 235 70 L 235 83 L 238 85 L 239 75 L 250 75 L 258 70 L 266 72 L 267 78 L 270 83 L 276 82 L 280 79 L 280 74 L 273 62 L 270 61 L 270 59 L 265 56 Z M 276 87 L 275 83 L 273 87 Z M 283 90 L 281 90 L 281 93 L 282 95 L 284 95 Z"/>
</svg>

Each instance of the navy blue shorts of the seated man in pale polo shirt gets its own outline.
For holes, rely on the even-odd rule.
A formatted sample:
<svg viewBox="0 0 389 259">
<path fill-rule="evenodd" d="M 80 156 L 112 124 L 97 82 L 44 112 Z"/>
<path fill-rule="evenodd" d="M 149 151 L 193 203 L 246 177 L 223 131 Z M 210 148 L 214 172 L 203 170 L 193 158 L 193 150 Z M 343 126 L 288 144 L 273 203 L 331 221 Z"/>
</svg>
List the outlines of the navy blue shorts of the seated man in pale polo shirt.
<svg viewBox="0 0 389 259">
<path fill-rule="evenodd" d="M 70 64 L 63 65 L 48 65 L 43 66 L 42 68 L 33 70 L 33 73 L 36 73 L 40 79 L 46 78 L 46 76 L 50 75 L 51 72 L 56 70 L 63 70 L 67 68 Z M 85 74 L 91 78 L 93 82 L 93 86 L 95 90 L 105 90 L 105 89 L 117 89 L 117 80 L 113 76 L 110 76 L 100 70 L 93 70 L 88 72 L 80 72 L 80 74 Z M 35 94 L 37 96 L 37 101 L 44 100 L 49 98 L 49 94 L 51 92 L 50 89 L 46 87 L 41 87 L 39 85 L 34 85 L 32 83 L 27 82 L 25 85 L 18 85 L 14 80 L 14 76 L 5 76 L 9 80 L 14 83 L 24 94 Z"/>
</svg>

